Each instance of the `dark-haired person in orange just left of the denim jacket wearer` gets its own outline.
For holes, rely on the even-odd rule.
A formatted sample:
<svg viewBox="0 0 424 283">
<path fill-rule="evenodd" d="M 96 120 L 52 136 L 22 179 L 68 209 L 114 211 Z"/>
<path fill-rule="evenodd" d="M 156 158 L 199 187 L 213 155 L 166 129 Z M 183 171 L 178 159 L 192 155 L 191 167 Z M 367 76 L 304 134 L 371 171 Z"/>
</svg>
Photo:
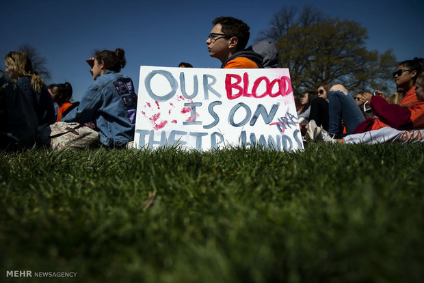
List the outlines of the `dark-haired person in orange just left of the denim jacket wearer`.
<svg viewBox="0 0 424 283">
<path fill-rule="evenodd" d="M 53 102 L 56 103 L 57 108 L 57 122 L 62 121 L 69 111 L 79 105 L 79 102 L 71 103 L 69 100 L 72 97 L 72 85 L 70 83 L 53 83 L 49 85 L 49 92 Z"/>
</svg>

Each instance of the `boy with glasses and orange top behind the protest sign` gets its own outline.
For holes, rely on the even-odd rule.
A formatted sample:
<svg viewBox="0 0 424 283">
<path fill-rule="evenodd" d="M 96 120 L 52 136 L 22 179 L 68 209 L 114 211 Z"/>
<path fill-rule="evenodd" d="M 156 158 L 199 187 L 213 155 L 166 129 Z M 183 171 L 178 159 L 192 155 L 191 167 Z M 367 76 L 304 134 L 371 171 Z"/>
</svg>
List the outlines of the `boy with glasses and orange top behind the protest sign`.
<svg viewBox="0 0 424 283">
<path fill-rule="evenodd" d="M 233 17 L 221 16 L 213 20 L 213 29 L 206 40 L 211 57 L 220 59 L 221 68 L 263 68 L 263 57 L 244 49 L 250 37 L 250 27 Z"/>
</svg>

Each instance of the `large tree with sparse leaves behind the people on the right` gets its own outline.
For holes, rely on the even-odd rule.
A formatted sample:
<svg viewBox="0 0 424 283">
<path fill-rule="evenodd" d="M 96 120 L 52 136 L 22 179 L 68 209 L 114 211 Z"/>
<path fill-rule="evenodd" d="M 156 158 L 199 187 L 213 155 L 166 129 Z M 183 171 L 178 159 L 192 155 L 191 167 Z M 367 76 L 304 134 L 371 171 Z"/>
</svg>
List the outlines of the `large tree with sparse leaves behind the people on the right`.
<svg viewBox="0 0 424 283">
<path fill-rule="evenodd" d="M 368 51 L 367 29 L 355 21 L 327 18 L 311 6 L 300 13 L 282 8 L 261 38 L 274 40 L 280 67 L 289 68 L 293 92 L 316 90 L 320 83 L 343 83 L 351 90 L 394 88 L 393 51 Z"/>
</svg>

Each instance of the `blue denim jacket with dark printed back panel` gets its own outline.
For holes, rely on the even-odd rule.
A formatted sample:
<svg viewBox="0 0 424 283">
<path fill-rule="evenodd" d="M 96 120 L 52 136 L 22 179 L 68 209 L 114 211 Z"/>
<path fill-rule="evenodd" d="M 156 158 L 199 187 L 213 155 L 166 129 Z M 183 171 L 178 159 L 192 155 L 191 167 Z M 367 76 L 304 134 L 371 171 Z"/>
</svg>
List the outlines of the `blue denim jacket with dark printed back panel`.
<svg viewBox="0 0 424 283">
<path fill-rule="evenodd" d="M 107 70 L 85 92 L 81 103 L 62 120 L 96 122 L 105 146 L 124 146 L 134 139 L 137 95 L 130 77 Z"/>
</svg>

